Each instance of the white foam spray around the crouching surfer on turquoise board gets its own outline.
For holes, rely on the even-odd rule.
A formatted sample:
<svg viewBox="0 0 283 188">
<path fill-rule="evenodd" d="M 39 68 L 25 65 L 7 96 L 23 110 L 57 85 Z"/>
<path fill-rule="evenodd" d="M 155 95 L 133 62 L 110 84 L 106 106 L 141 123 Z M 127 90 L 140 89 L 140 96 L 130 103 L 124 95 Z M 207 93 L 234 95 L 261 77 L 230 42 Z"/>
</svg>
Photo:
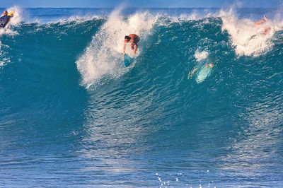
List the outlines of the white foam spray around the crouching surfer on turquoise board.
<svg viewBox="0 0 283 188">
<path fill-rule="evenodd" d="M 87 88 L 95 83 L 103 83 L 103 78 L 119 78 L 127 69 L 122 66 L 122 51 L 125 35 L 135 33 L 141 40 L 150 35 L 156 18 L 148 13 L 135 13 L 128 18 L 120 16 L 120 9 L 111 13 L 108 20 L 93 36 L 91 44 L 76 61 Z M 141 53 L 139 45 L 137 55 Z"/>
</svg>

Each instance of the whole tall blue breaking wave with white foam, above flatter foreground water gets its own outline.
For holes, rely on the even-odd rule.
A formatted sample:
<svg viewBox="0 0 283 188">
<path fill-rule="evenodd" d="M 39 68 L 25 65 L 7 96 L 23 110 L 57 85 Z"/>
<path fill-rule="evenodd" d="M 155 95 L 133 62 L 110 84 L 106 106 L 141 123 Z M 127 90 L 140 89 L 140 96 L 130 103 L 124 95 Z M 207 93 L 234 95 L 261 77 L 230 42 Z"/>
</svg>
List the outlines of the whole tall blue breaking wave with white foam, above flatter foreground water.
<svg viewBox="0 0 283 188">
<path fill-rule="evenodd" d="M 108 84 L 114 84 L 115 93 L 101 95 L 113 100 L 112 105 L 122 92 L 129 101 L 142 97 L 154 100 L 152 102 L 167 110 L 167 106 L 170 107 L 171 110 L 164 112 L 168 118 L 171 117 L 169 114 L 179 113 L 178 105 L 192 109 L 203 107 L 205 110 L 199 114 L 200 119 L 207 113 L 212 116 L 225 113 L 225 108 L 211 113 L 209 107 L 217 106 L 216 101 L 236 110 L 240 105 L 236 105 L 239 98 L 240 101 L 248 100 L 250 88 L 275 88 L 282 82 L 282 65 L 278 61 L 282 42 L 273 35 L 259 35 L 265 39 L 262 45 L 268 46 L 265 51 L 254 49 L 250 42 L 247 48 L 251 45 L 253 53 L 238 53 L 235 40 L 238 36 L 229 30 L 234 23 L 225 19 L 232 17 L 228 13 L 216 18 L 175 19 L 136 13 L 125 18 L 114 12 L 109 18 L 14 25 L 17 34 L 1 38 L 1 64 L 4 65 L 1 66 L 1 87 L 4 88 L 1 100 L 7 104 L 2 110 L 8 106 L 21 109 L 30 104 L 50 109 L 50 104 L 62 104 L 59 101 L 70 101 L 78 90 L 83 92 L 81 85 L 93 86 L 94 90 L 98 88 L 97 95 L 100 96 L 100 87 L 107 88 Z M 139 54 L 133 66 L 125 69 L 121 38 L 132 30 L 141 35 Z M 280 36 L 281 30 L 277 28 L 274 33 Z M 188 80 L 187 75 L 198 64 L 197 54 L 203 52 L 215 59 L 214 69 L 203 83 L 198 84 L 195 78 Z M 272 68 L 273 64 L 277 64 L 278 69 Z M 262 73 L 265 77 L 258 76 Z M 249 80 L 256 81 L 246 83 Z M 253 85 L 249 86 L 251 83 Z M 275 90 L 276 95 L 272 98 L 280 102 L 282 88 L 277 86 L 277 89 L 279 91 Z M 129 93 L 126 94 L 127 90 Z M 215 95 L 216 99 L 209 100 L 207 95 Z M 264 98 L 268 96 L 266 94 Z M 191 114 L 196 112 L 200 113 L 190 111 Z"/>
</svg>

